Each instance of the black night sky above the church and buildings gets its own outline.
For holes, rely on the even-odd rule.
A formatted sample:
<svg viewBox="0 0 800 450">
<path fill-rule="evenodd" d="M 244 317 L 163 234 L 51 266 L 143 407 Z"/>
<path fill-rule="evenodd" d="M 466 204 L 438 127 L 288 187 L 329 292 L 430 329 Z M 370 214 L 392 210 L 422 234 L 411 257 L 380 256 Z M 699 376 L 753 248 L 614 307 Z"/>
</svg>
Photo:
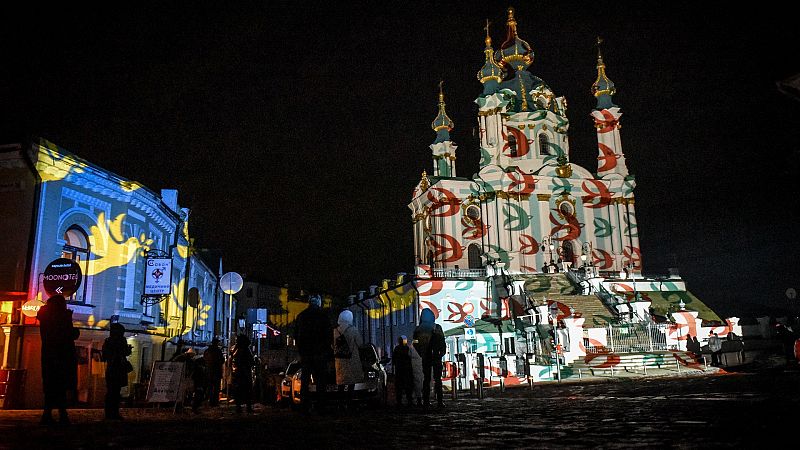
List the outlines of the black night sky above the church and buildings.
<svg viewBox="0 0 800 450">
<path fill-rule="evenodd" d="M 4 142 L 42 136 L 178 189 L 226 271 L 346 295 L 411 270 L 406 205 L 431 170 L 437 83 L 470 176 L 483 24 L 497 47 L 508 2 L 127 3 L 4 11 Z M 551 3 L 510 4 L 530 71 L 567 97 L 571 160 L 595 171 L 604 38 L 645 273 L 678 267 L 723 315 L 785 305 L 800 289 L 800 101 L 776 81 L 800 72 L 794 15 Z"/>
</svg>

